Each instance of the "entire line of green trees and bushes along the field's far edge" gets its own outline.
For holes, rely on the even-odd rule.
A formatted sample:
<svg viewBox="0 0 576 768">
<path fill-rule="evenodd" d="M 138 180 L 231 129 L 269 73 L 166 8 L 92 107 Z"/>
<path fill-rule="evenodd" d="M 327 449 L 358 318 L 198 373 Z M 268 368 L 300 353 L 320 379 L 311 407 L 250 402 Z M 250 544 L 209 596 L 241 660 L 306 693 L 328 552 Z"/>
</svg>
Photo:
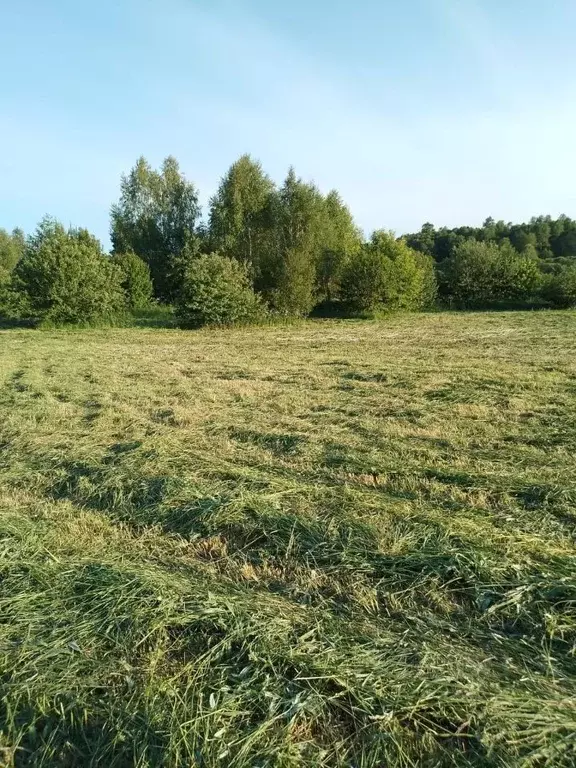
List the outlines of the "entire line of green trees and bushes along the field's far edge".
<svg viewBox="0 0 576 768">
<path fill-rule="evenodd" d="M 168 157 L 141 157 L 111 209 L 112 252 L 85 229 L 45 218 L 36 232 L 0 230 L 0 314 L 93 323 L 152 302 L 183 327 L 269 316 L 380 310 L 576 305 L 576 222 L 436 229 L 366 241 L 335 190 L 290 169 L 278 186 L 244 155 L 203 219 L 198 190 Z"/>
</svg>

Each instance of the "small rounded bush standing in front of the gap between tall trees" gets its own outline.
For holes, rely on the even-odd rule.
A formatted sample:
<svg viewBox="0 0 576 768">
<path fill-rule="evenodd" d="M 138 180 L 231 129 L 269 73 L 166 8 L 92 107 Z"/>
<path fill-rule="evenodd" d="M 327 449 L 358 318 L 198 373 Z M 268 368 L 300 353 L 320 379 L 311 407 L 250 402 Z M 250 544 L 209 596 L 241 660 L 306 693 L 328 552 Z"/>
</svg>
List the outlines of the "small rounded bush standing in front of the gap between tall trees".
<svg viewBox="0 0 576 768">
<path fill-rule="evenodd" d="M 183 328 L 248 324 L 266 314 L 252 290 L 246 267 L 216 253 L 190 261 L 175 311 Z"/>
</svg>

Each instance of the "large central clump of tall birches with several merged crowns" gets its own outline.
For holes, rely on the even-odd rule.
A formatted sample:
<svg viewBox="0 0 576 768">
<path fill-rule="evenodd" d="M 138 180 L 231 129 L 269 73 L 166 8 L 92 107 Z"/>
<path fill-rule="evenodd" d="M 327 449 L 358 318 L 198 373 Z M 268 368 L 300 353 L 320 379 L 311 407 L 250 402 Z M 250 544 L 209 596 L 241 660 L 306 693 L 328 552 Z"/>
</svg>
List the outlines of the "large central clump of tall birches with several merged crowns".
<svg viewBox="0 0 576 768">
<path fill-rule="evenodd" d="M 362 238 L 337 192 L 324 198 L 293 169 L 276 190 L 245 155 L 211 201 L 209 241 L 248 266 L 276 312 L 306 315 L 317 300 L 337 296 L 343 264 Z"/>
</svg>

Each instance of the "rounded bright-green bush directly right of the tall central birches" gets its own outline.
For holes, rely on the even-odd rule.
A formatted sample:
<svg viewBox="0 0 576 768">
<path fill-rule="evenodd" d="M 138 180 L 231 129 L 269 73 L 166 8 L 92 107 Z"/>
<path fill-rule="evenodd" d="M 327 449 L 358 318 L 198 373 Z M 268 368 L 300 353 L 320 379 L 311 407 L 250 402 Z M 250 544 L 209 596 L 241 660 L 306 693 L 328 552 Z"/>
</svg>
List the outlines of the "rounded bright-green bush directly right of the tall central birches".
<svg viewBox="0 0 576 768">
<path fill-rule="evenodd" d="M 430 257 L 389 232 L 375 232 L 342 275 L 342 299 L 359 311 L 422 309 L 434 303 L 436 278 Z"/>
</svg>

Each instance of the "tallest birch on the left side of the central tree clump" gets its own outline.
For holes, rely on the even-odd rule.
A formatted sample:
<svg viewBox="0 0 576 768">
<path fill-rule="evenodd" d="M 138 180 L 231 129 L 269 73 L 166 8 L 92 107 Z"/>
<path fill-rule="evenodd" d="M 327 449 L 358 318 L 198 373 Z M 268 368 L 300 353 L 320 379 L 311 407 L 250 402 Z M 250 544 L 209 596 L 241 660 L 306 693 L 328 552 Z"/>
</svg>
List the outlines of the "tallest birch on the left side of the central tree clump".
<svg viewBox="0 0 576 768">
<path fill-rule="evenodd" d="M 210 201 L 209 241 L 213 249 L 258 269 L 269 220 L 266 211 L 274 192 L 259 162 L 243 155 L 222 178 Z"/>
</svg>

